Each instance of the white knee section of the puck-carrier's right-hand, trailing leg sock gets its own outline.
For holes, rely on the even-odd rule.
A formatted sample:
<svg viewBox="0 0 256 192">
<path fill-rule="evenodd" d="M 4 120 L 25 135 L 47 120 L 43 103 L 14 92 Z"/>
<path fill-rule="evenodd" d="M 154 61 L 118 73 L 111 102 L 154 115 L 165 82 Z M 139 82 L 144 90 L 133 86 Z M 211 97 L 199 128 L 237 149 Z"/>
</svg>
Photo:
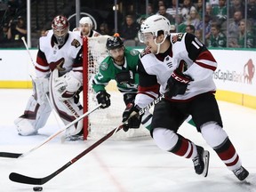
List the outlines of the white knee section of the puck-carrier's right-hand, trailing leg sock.
<svg viewBox="0 0 256 192">
<path fill-rule="evenodd" d="M 227 139 L 227 133 L 216 122 L 208 122 L 201 126 L 201 133 L 209 146 L 215 148 Z"/>
</svg>

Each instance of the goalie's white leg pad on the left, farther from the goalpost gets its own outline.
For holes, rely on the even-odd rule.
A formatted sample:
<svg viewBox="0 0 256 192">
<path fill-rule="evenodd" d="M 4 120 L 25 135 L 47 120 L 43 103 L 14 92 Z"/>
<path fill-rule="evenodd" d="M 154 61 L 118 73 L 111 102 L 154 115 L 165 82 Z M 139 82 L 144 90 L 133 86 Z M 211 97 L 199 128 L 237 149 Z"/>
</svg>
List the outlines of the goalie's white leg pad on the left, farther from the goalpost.
<svg viewBox="0 0 256 192">
<path fill-rule="evenodd" d="M 24 114 L 14 120 L 17 131 L 20 135 L 24 136 L 36 134 L 38 129 L 44 127 L 44 124 L 46 124 L 51 111 L 52 108 L 48 102 L 40 105 L 35 100 L 35 96 L 31 96 Z"/>
</svg>

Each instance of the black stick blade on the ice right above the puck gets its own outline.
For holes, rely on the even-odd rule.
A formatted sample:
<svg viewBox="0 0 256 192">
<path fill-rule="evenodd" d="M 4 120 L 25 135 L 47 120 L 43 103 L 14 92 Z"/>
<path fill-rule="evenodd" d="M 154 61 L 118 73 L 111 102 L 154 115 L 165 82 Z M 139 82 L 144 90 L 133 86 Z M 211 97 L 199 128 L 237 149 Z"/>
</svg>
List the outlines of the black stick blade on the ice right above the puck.
<svg viewBox="0 0 256 192">
<path fill-rule="evenodd" d="M 16 172 L 11 172 L 11 174 L 9 175 L 9 179 L 14 182 L 30 184 L 30 185 L 43 185 L 44 184 L 44 180 L 42 178 L 41 179 L 31 178 L 31 177 L 21 175 Z"/>
</svg>

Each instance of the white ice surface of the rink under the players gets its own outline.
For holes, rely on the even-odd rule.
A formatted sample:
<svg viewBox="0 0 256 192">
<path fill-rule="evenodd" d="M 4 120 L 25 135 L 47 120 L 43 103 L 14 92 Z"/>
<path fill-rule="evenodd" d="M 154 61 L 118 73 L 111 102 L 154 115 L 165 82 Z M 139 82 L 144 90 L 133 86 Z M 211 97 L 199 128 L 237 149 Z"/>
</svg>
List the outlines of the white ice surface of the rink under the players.
<svg viewBox="0 0 256 192">
<path fill-rule="evenodd" d="M 54 116 L 40 135 L 19 136 L 13 120 L 26 106 L 31 90 L 0 90 L 0 151 L 24 153 L 60 129 Z M 191 160 L 156 147 L 149 137 L 140 140 L 108 139 L 42 187 L 45 192 L 255 192 L 256 110 L 218 101 L 224 129 L 250 172 L 241 182 L 220 161 L 196 129 L 189 124 L 180 134 L 211 153 L 209 174 L 196 175 Z M 113 128 L 117 124 L 113 125 Z M 60 126 L 63 126 L 60 124 Z M 123 132 L 123 131 L 120 131 Z M 116 132 L 118 134 L 118 132 Z M 58 170 L 95 140 L 60 143 L 60 137 L 18 159 L 0 157 L 0 191 L 33 191 L 33 185 L 9 180 L 11 172 L 41 178 Z"/>
</svg>

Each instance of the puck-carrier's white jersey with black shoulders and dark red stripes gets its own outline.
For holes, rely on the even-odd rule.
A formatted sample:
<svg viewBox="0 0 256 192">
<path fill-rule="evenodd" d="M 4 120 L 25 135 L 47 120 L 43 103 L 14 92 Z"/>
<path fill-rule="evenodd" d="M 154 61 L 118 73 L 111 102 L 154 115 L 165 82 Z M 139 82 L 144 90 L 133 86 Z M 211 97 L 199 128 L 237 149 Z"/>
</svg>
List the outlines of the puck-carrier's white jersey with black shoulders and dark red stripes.
<svg viewBox="0 0 256 192">
<path fill-rule="evenodd" d="M 167 80 L 173 70 L 180 70 L 193 78 L 187 91 L 172 101 L 186 101 L 204 92 L 215 92 L 213 71 L 217 62 L 212 53 L 191 34 L 172 34 L 171 46 L 164 52 L 153 54 L 147 48 L 140 53 L 138 70 L 140 75 L 139 92 L 135 103 L 143 108 L 156 99 L 159 93 L 167 91 Z"/>
</svg>

